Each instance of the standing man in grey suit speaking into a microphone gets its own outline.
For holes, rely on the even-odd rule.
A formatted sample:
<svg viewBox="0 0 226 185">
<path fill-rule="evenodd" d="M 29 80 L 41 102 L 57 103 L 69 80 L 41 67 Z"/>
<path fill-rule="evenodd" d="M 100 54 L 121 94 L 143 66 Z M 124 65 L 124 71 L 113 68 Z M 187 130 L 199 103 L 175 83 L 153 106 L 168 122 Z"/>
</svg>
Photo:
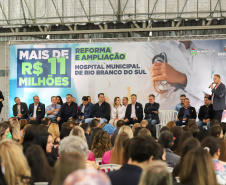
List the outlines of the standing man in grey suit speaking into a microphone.
<svg viewBox="0 0 226 185">
<path fill-rule="evenodd" d="M 213 87 L 213 84 L 210 85 L 212 89 L 212 103 L 213 103 L 213 117 L 221 122 L 222 113 L 225 109 L 225 85 L 221 82 L 221 77 L 218 74 L 215 74 L 213 81 L 216 84 Z"/>
</svg>

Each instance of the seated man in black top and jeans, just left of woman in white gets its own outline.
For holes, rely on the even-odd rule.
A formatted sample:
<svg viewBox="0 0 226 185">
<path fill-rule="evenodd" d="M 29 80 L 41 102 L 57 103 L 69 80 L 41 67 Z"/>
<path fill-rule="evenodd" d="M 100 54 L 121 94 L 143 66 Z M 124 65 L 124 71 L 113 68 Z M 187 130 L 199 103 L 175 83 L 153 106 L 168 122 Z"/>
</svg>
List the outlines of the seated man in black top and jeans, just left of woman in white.
<svg viewBox="0 0 226 185">
<path fill-rule="evenodd" d="M 93 119 L 100 121 L 100 124 L 107 123 L 110 120 L 111 107 L 105 102 L 104 93 L 98 94 L 99 101 L 92 107 L 92 118 L 87 118 L 86 123 L 91 123 Z"/>
</svg>

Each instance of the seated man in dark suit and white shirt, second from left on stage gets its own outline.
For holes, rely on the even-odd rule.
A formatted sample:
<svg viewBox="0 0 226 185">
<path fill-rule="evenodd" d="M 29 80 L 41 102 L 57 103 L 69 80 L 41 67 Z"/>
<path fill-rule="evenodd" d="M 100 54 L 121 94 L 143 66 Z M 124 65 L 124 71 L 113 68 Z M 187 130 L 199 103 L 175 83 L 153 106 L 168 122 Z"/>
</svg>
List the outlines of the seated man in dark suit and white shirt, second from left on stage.
<svg viewBox="0 0 226 185">
<path fill-rule="evenodd" d="M 42 118 L 45 116 L 45 104 L 39 101 L 39 97 L 36 95 L 33 97 L 34 103 L 29 105 L 29 117 L 30 120 L 37 120 L 41 123 Z"/>
</svg>

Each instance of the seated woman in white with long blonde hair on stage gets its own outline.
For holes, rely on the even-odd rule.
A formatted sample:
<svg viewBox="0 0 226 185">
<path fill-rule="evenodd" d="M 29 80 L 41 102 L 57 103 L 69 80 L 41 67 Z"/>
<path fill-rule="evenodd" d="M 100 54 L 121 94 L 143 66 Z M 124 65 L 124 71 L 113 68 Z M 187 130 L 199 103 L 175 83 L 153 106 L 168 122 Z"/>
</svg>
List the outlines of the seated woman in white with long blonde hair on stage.
<svg viewBox="0 0 226 185">
<path fill-rule="evenodd" d="M 113 106 L 111 107 L 111 120 L 109 123 L 116 127 L 118 120 L 123 120 L 125 117 L 126 107 L 121 105 L 119 97 L 114 98 Z"/>
</svg>

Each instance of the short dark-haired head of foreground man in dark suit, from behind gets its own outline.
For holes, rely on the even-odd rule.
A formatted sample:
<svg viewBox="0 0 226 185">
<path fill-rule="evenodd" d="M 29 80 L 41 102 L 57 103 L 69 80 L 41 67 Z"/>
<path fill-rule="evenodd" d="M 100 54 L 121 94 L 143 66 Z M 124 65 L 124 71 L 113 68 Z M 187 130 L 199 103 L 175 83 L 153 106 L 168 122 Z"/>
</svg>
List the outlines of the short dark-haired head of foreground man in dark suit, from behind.
<svg viewBox="0 0 226 185">
<path fill-rule="evenodd" d="M 137 136 L 129 144 L 128 164 L 137 163 L 141 167 L 152 161 L 157 155 L 158 143 L 151 136 Z"/>
</svg>

